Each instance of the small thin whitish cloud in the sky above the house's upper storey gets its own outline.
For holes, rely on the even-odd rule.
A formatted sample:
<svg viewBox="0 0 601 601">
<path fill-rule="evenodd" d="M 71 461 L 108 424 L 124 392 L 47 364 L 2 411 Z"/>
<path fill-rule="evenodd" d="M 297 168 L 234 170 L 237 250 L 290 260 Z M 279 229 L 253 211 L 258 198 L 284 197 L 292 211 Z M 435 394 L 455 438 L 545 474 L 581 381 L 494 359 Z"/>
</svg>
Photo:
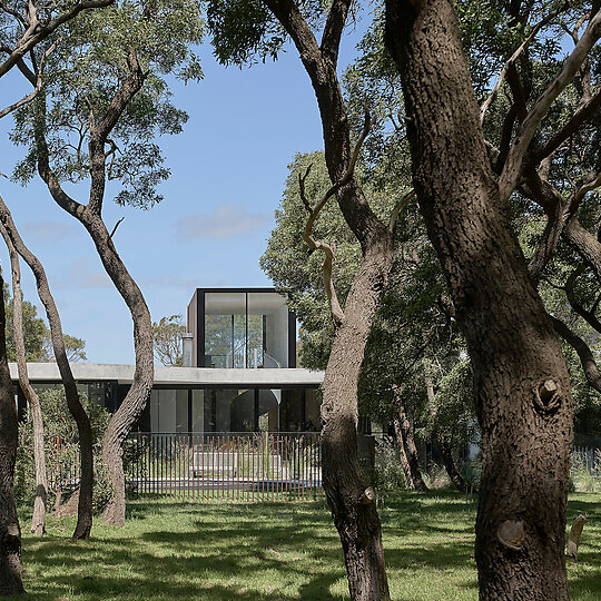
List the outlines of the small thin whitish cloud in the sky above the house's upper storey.
<svg viewBox="0 0 601 601">
<path fill-rule="evenodd" d="M 249 213 L 239 205 L 227 203 L 210 213 L 195 213 L 175 223 L 178 239 L 194 240 L 228 239 L 265 228 L 269 216 L 264 213 Z"/>
</svg>

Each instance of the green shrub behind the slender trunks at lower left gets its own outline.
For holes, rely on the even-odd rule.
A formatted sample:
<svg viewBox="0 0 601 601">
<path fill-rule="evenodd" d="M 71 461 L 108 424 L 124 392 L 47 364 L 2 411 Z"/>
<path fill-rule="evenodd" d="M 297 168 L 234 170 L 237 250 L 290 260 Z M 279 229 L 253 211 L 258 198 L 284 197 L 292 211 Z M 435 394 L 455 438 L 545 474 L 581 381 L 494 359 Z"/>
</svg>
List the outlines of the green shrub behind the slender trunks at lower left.
<svg viewBox="0 0 601 601">
<path fill-rule="evenodd" d="M 46 466 L 51 500 L 59 492 L 71 493 L 76 486 L 75 479 L 79 474 L 78 432 L 76 422 L 67 408 L 62 388 L 41 388 L 38 394 L 42 408 Z M 110 497 L 110 484 L 101 462 L 101 437 L 110 414 L 97 403 L 88 400 L 86 395 L 80 394 L 80 398 L 92 428 L 96 472 L 92 502 L 95 511 L 99 512 Z M 28 415 L 26 421 L 19 424 L 14 495 L 19 503 L 32 504 L 35 492 L 33 425 Z"/>
</svg>

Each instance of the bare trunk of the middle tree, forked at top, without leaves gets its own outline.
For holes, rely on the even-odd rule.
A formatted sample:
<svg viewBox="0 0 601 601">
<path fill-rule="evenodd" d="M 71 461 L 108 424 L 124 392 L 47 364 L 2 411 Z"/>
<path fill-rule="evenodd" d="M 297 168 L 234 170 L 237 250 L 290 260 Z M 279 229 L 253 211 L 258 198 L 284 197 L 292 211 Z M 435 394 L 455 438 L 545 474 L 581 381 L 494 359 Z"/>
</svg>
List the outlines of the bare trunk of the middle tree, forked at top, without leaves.
<svg viewBox="0 0 601 601">
<path fill-rule="evenodd" d="M 336 333 L 324 377 L 322 470 L 327 503 L 342 541 L 351 598 L 385 601 L 390 592 L 381 524 L 357 460 L 357 383 L 367 335 L 392 267 L 397 211 L 390 224 L 383 224 L 352 173 L 348 119 L 336 76 L 349 1 L 334 0 L 321 45 L 294 1 L 264 1 L 293 39 L 311 78 L 333 190 L 363 253 L 344 312 L 331 298 Z M 327 283 L 326 292 L 331 296 Z"/>
</svg>

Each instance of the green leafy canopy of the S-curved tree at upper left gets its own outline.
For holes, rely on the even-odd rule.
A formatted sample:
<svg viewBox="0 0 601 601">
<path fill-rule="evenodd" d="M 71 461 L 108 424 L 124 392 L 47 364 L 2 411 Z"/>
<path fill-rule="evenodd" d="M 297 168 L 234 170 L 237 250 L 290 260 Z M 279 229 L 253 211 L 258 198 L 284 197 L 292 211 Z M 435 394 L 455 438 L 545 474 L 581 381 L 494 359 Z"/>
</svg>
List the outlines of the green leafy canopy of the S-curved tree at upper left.
<svg viewBox="0 0 601 601">
<path fill-rule="evenodd" d="M 156 188 L 169 170 L 152 140 L 178 134 L 188 118 L 171 105 L 164 76 L 184 81 L 201 78 L 193 51 L 201 33 L 197 0 L 119 0 L 65 24 L 61 41 L 48 59 L 43 88 L 51 166 L 61 180 L 88 177 L 90 124 L 110 114 L 112 98 L 129 76 L 127 57 L 134 50 L 145 83 L 110 132 L 106 175 L 121 186 L 115 197 L 120 205 L 149 208 L 162 199 Z M 16 144 L 28 147 L 13 174 L 22 183 L 36 168 L 36 107 L 33 102 L 16 114 L 11 132 Z"/>
</svg>

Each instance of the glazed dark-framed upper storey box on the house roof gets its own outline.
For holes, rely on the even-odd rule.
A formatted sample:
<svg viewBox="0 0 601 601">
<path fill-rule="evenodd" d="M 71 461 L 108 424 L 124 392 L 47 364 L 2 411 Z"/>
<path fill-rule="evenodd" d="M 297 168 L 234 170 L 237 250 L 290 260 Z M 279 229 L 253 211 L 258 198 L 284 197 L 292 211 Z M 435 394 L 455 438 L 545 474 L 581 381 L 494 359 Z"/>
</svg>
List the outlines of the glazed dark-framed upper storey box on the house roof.
<svg viewBox="0 0 601 601">
<path fill-rule="evenodd" d="M 196 288 L 188 333 L 194 367 L 296 367 L 296 319 L 273 288 Z"/>
</svg>

